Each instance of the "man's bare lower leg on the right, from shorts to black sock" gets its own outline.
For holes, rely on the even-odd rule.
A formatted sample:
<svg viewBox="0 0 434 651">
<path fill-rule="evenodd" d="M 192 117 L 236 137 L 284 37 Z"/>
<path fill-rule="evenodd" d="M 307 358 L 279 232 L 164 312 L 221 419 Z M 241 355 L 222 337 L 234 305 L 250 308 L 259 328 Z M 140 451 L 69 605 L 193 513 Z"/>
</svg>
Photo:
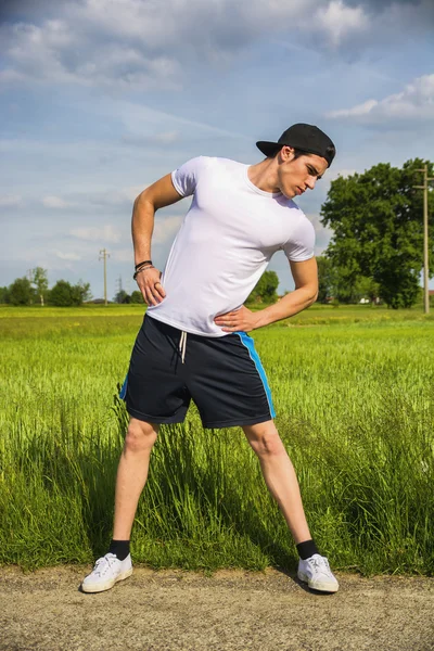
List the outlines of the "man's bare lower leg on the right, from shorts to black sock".
<svg viewBox="0 0 434 651">
<path fill-rule="evenodd" d="M 243 431 L 258 456 L 265 483 L 278 502 L 295 544 L 310 540 L 294 467 L 273 421 L 245 425 Z"/>
</svg>

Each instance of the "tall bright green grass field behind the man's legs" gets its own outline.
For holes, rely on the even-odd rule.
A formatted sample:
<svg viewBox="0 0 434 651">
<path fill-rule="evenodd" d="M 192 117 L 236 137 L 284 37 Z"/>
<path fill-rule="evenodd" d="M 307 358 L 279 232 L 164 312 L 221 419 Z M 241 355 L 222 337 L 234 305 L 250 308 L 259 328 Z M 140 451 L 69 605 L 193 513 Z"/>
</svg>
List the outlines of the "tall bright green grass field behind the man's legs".
<svg viewBox="0 0 434 651">
<path fill-rule="evenodd" d="M 0 562 L 89 562 L 111 537 L 115 397 L 143 307 L 0 307 Z M 253 334 L 312 534 L 334 567 L 434 571 L 434 319 L 314 306 Z M 133 529 L 155 567 L 291 567 L 239 429 L 163 427 Z"/>
</svg>

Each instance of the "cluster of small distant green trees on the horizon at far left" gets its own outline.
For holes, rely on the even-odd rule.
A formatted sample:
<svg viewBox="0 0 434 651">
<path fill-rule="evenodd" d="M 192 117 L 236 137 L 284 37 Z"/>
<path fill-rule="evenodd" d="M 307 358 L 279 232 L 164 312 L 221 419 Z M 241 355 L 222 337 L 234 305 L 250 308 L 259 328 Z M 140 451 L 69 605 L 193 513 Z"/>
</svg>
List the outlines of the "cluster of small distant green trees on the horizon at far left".
<svg viewBox="0 0 434 651">
<path fill-rule="evenodd" d="M 90 284 L 81 280 L 77 284 L 58 280 L 49 290 L 47 269 L 42 267 L 33 269 L 28 277 L 16 278 L 9 288 L 0 288 L 0 303 L 9 305 L 69 307 L 81 305 L 90 298 Z"/>
</svg>

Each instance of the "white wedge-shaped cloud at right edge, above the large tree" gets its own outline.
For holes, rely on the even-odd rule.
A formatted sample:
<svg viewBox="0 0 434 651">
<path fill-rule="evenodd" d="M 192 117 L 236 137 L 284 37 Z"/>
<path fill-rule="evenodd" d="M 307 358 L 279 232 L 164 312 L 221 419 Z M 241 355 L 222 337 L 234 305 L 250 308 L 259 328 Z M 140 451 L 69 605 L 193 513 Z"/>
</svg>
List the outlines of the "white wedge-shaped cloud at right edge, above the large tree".
<svg viewBox="0 0 434 651">
<path fill-rule="evenodd" d="M 362 124 L 434 119 L 434 74 L 418 77 L 401 92 L 383 100 L 370 99 L 352 108 L 333 111 L 327 117 Z"/>
</svg>

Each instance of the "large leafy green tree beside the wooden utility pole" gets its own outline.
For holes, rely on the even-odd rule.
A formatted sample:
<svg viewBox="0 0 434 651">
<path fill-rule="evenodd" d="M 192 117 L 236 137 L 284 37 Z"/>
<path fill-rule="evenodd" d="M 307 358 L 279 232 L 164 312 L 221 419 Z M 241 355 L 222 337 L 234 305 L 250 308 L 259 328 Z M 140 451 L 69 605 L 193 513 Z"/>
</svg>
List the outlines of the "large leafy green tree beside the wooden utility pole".
<svg viewBox="0 0 434 651">
<path fill-rule="evenodd" d="M 378 283 L 380 295 L 393 308 L 410 307 L 417 301 L 423 213 L 422 192 L 413 186 L 420 181 L 416 169 L 423 165 L 419 158 L 408 161 L 403 169 L 381 163 L 363 174 L 332 181 L 321 207 L 322 224 L 334 231 L 326 255 L 353 294 L 365 277 Z M 433 165 L 427 165 L 433 176 Z M 432 227 L 433 192 L 429 202 Z"/>
</svg>

